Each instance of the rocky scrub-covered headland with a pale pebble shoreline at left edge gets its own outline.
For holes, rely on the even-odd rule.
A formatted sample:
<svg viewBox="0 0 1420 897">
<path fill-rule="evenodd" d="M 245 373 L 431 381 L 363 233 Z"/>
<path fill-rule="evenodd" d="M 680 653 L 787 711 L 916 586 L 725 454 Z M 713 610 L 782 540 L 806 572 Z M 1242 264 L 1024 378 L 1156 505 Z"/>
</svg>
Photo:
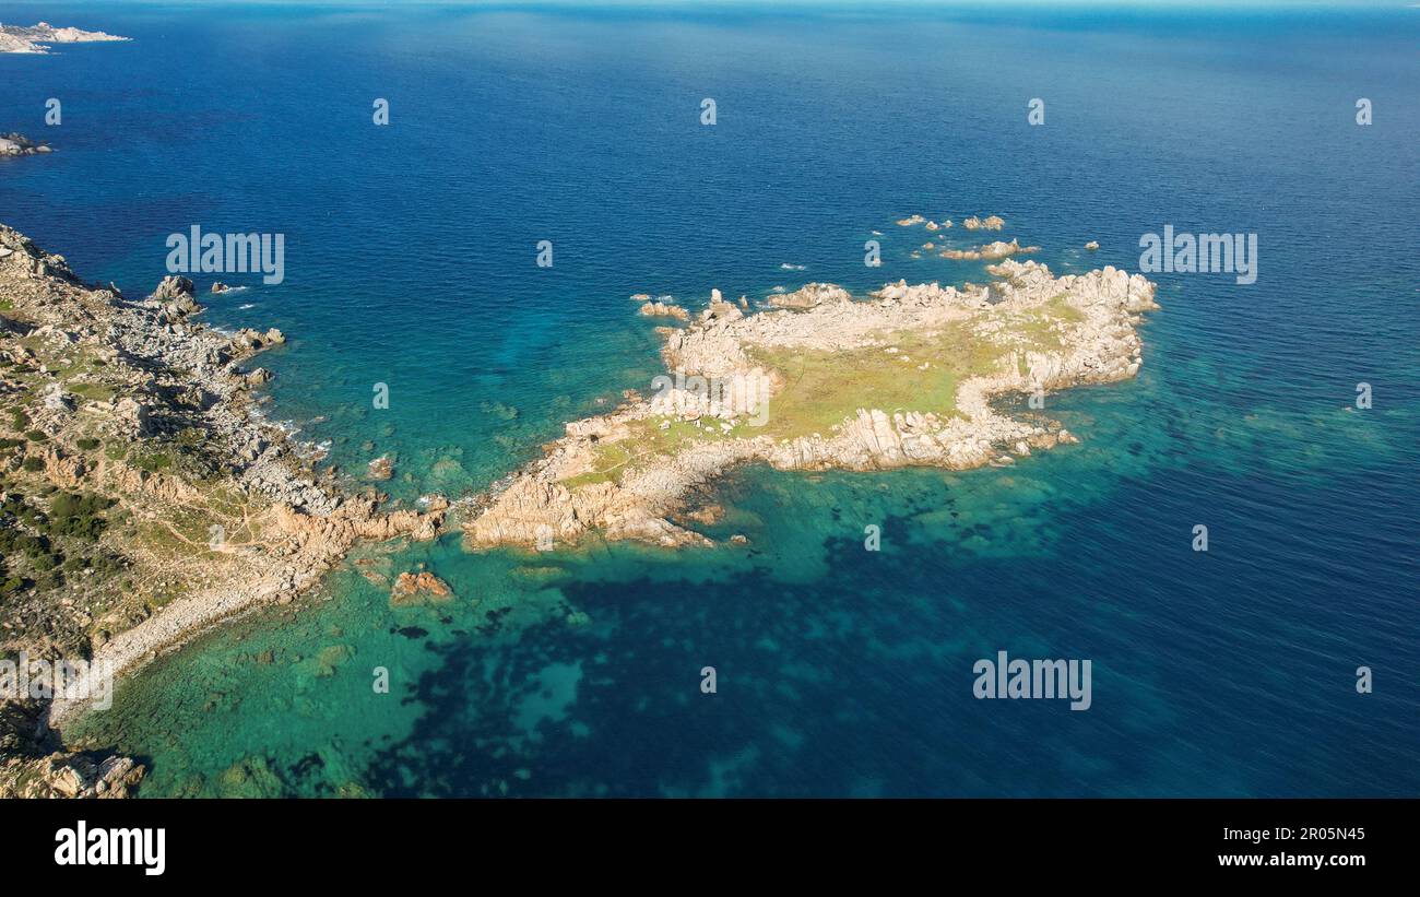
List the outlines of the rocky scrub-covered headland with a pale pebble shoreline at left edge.
<svg viewBox="0 0 1420 897">
<path fill-rule="evenodd" d="M 0 226 L 0 657 L 119 673 L 192 633 L 287 603 L 356 539 L 435 538 L 447 502 L 312 470 L 246 369 L 280 331 L 206 326 L 192 281 L 131 301 Z M 142 768 L 67 754 L 82 703 L 0 698 L 0 796 L 121 796 Z"/>
</svg>

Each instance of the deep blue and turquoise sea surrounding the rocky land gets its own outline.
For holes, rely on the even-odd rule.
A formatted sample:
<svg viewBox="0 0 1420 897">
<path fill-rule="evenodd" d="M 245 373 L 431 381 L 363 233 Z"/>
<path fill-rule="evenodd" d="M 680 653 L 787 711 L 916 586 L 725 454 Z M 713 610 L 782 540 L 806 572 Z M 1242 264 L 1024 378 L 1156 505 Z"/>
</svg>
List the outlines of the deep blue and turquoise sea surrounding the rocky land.
<svg viewBox="0 0 1420 897">
<path fill-rule="evenodd" d="M 0 221 L 129 295 L 193 224 L 285 234 L 206 318 L 285 331 L 271 413 L 406 502 L 645 390 L 635 292 L 984 278 L 912 213 L 1056 271 L 1260 244 L 1252 285 L 1153 275 L 1140 376 L 1014 468 L 746 468 L 748 549 L 365 546 L 457 600 L 352 563 L 125 680 L 75 737 L 145 795 L 1420 795 L 1420 10 L 0 3 L 40 18 L 135 40 L 0 55 L 0 132 L 57 150 Z M 976 700 L 998 650 L 1091 659 L 1092 707 Z"/>
</svg>

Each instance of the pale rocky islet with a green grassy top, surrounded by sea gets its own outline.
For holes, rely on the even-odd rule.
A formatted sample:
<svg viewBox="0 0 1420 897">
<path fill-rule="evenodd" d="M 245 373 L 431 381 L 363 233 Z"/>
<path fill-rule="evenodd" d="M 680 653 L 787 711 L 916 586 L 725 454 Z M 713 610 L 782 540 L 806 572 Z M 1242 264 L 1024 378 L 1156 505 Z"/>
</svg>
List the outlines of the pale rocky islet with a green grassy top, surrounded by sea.
<svg viewBox="0 0 1420 897">
<path fill-rule="evenodd" d="M 693 487 L 737 464 L 961 470 L 1075 441 L 993 400 L 1132 378 L 1154 284 L 1113 267 L 1056 277 L 1015 260 L 988 273 L 988 285 L 899 281 L 868 299 L 808 284 L 748 314 L 716 291 L 689 326 L 660 328 L 672 373 L 655 395 L 568 423 L 469 517 L 466 545 L 547 548 L 591 532 L 707 544 L 672 517 Z"/>
</svg>

